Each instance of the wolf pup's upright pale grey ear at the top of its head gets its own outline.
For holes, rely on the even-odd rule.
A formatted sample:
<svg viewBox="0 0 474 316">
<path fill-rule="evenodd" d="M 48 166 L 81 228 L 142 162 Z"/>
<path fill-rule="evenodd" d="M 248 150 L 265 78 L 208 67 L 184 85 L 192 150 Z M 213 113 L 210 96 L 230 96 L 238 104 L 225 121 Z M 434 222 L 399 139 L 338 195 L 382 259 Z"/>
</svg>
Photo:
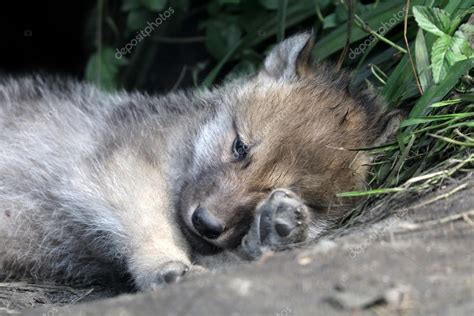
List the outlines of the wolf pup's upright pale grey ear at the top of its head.
<svg viewBox="0 0 474 316">
<path fill-rule="evenodd" d="M 260 73 L 285 80 L 304 77 L 311 71 L 313 47 L 313 32 L 292 36 L 270 51 Z"/>
</svg>

